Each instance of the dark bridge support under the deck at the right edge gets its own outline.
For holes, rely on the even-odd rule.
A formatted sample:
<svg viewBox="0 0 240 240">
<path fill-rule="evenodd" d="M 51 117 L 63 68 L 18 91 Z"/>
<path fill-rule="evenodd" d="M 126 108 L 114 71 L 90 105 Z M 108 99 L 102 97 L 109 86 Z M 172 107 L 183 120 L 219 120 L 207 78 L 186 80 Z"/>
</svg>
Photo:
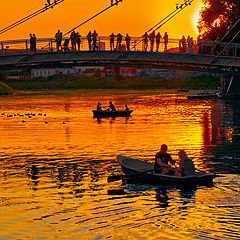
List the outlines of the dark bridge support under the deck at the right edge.
<svg viewBox="0 0 240 240">
<path fill-rule="evenodd" d="M 222 74 L 220 84 L 221 98 L 240 98 L 240 76 Z"/>
</svg>

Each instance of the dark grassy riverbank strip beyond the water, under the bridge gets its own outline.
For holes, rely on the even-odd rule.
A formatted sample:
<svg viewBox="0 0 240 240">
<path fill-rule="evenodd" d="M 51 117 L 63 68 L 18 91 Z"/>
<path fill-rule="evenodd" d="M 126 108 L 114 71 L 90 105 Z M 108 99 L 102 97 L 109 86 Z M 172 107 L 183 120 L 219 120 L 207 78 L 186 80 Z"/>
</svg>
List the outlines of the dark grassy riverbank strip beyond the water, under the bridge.
<svg viewBox="0 0 240 240">
<path fill-rule="evenodd" d="M 73 89 L 216 89 L 219 79 L 213 77 L 194 77 L 191 79 L 142 79 L 142 78 L 99 78 L 69 75 L 48 78 L 21 78 L 2 80 L 10 89 L 16 91 L 45 91 Z M 2 89 L 4 89 L 2 87 Z M 0 93 L 1 94 L 1 93 Z"/>
</svg>

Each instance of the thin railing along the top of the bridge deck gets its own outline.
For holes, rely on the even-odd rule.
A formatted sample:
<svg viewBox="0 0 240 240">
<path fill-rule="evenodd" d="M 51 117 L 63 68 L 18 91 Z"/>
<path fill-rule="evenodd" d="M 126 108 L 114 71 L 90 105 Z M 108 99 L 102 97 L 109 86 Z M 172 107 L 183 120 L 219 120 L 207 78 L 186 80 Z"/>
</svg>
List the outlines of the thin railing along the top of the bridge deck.
<svg viewBox="0 0 240 240">
<path fill-rule="evenodd" d="M 131 38 L 131 51 L 144 51 L 143 41 L 138 43 L 139 37 Z M 60 51 L 64 51 L 63 45 L 65 41 L 69 41 L 68 47 L 65 48 L 66 51 L 78 51 L 78 44 L 76 44 L 76 49 L 72 48 L 71 40 L 69 38 L 64 38 L 62 41 L 62 48 Z M 114 49 L 116 49 L 116 39 L 114 42 Z M 57 46 L 54 38 L 39 38 L 36 42 L 37 52 L 56 52 Z M 88 40 L 86 37 L 81 38 L 80 51 L 89 50 Z M 93 50 L 93 46 L 91 46 Z M 96 50 L 111 50 L 110 39 L 108 36 L 99 36 L 97 39 L 97 49 Z M 121 43 L 121 49 L 126 50 L 125 37 L 123 37 Z M 147 51 L 150 50 L 150 41 L 148 41 Z M 180 39 L 169 39 L 167 44 L 167 51 L 173 53 L 192 53 L 192 54 L 208 54 L 208 55 L 227 55 L 232 57 L 239 56 L 240 44 L 239 43 L 225 43 L 225 42 L 211 42 L 211 41 L 194 41 L 192 51 L 183 51 L 181 46 L 180 48 Z M 153 51 L 156 51 L 156 42 L 154 43 Z M 159 45 L 159 52 L 165 51 L 164 40 L 161 39 Z M 32 53 L 30 48 L 29 39 L 19 39 L 19 40 L 9 40 L 0 42 L 0 54 L 1 55 L 13 55 L 13 54 L 28 54 Z"/>
</svg>

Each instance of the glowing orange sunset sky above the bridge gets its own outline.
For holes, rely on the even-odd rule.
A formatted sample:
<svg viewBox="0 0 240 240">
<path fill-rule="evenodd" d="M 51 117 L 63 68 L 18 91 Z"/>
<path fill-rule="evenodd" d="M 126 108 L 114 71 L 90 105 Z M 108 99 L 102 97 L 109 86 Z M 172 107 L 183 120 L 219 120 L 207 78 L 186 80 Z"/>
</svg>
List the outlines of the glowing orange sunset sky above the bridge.
<svg viewBox="0 0 240 240">
<path fill-rule="evenodd" d="M 182 2 L 176 0 L 123 0 L 117 7 L 111 8 L 78 28 L 77 31 L 82 36 L 94 29 L 100 36 L 108 36 L 111 32 L 139 36 L 173 11 L 176 3 Z M 28 38 L 30 32 L 35 33 L 37 37 L 52 37 L 58 29 L 65 33 L 103 10 L 109 3 L 110 0 L 65 0 L 54 9 L 1 34 L 0 40 L 25 39 Z M 44 4 L 45 0 L 2 2 L 0 29 L 40 9 Z M 170 38 L 179 38 L 182 35 L 191 35 L 196 38 L 198 35 L 196 21 L 201 5 L 201 0 L 195 0 L 191 6 L 163 26 L 160 32 L 167 31 Z"/>
</svg>

